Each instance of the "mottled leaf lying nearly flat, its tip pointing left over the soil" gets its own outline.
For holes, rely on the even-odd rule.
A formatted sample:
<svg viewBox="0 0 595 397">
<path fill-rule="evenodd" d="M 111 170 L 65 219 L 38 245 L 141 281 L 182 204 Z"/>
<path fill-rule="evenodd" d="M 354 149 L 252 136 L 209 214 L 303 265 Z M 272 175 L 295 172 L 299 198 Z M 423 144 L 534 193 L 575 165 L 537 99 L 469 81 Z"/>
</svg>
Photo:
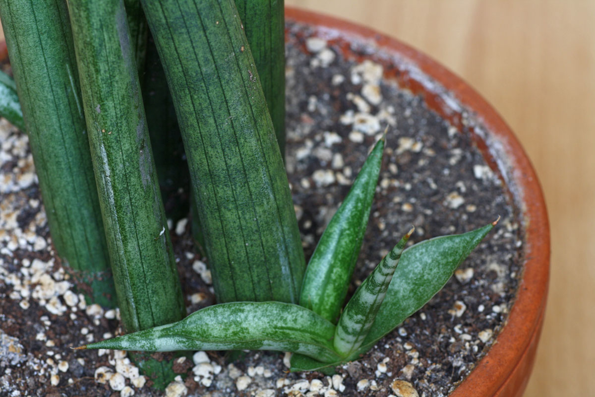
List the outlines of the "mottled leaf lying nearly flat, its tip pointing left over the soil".
<svg viewBox="0 0 595 397">
<path fill-rule="evenodd" d="M 86 349 L 140 351 L 275 350 L 335 362 L 335 326 L 308 309 L 282 302 L 230 302 L 203 308 L 184 320 L 89 343 Z"/>
</svg>

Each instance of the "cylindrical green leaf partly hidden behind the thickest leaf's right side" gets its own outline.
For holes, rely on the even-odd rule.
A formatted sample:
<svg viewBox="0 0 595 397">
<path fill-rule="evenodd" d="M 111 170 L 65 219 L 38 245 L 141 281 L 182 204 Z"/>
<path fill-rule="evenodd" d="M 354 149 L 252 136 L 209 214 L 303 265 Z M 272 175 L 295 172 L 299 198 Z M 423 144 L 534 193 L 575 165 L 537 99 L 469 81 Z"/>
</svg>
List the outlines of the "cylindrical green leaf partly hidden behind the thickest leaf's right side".
<svg viewBox="0 0 595 397">
<path fill-rule="evenodd" d="M 285 157 L 285 9 L 283 0 L 236 0 L 273 120 L 281 156 Z"/>
</svg>

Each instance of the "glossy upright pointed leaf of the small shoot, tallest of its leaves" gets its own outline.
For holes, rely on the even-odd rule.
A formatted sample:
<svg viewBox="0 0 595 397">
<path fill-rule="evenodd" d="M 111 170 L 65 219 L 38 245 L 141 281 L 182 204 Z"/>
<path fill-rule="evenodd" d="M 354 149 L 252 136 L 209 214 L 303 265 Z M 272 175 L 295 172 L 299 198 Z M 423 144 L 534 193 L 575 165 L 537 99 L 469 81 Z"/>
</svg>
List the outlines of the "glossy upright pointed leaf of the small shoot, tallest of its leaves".
<svg viewBox="0 0 595 397">
<path fill-rule="evenodd" d="M 306 268 L 300 305 L 336 321 L 347 295 L 380 174 L 384 137 L 368 155 Z"/>
</svg>

